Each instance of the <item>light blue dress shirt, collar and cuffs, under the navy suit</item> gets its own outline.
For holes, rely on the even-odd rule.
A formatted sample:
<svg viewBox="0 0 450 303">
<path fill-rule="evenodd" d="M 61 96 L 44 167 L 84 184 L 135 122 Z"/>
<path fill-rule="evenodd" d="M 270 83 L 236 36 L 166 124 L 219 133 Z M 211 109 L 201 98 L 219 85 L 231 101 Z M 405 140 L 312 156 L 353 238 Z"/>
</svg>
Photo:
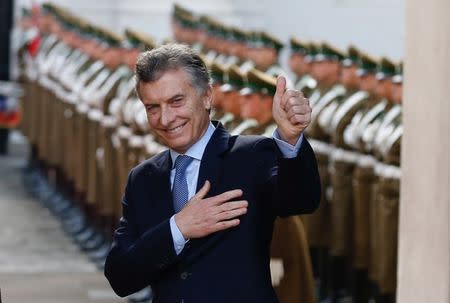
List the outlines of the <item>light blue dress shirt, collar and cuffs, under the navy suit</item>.
<svg viewBox="0 0 450 303">
<path fill-rule="evenodd" d="M 191 199 L 196 193 L 195 190 L 197 189 L 197 181 L 198 181 L 198 174 L 200 170 L 200 163 L 202 161 L 203 153 L 205 152 L 206 145 L 208 144 L 209 140 L 211 139 L 214 130 L 216 128 L 214 125 L 210 122 L 208 129 L 206 130 L 205 134 L 198 140 L 194 145 L 192 145 L 185 153 L 185 155 L 192 157 L 192 162 L 188 165 L 186 168 L 186 179 L 188 184 L 188 200 Z M 291 145 L 283 140 L 281 140 L 280 134 L 278 133 L 278 130 L 275 130 L 273 133 L 273 138 L 280 149 L 281 153 L 285 158 L 294 158 L 297 156 L 298 151 L 300 150 L 302 141 L 303 141 L 303 134 L 298 139 L 297 143 L 295 145 Z M 172 170 L 170 171 L 170 187 L 172 189 L 173 187 L 173 180 L 175 178 L 175 160 L 180 154 L 177 153 L 174 150 L 170 150 L 170 157 L 172 158 Z M 186 244 L 189 239 L 185 239 L 183 235 L 180 232 L 180 229 L 178 228 L 176 222 L 175 222 L 175 215 L 173 215 L 170 218 L 170 230 L 172 232 L 172 239 L 173 239 L 173 245 L 175 248 L 176 254 L 180 254 L 181 251 L 184 248 L 184 245 Z"/>
</svg>

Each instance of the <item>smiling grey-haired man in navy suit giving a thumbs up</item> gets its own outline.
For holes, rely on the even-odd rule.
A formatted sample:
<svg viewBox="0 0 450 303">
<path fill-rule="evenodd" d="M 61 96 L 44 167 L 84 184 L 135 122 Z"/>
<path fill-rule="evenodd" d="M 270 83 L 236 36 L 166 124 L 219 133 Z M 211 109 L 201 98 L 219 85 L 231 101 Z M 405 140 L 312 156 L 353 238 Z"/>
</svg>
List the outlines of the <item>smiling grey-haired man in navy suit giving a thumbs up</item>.
<svg viewBox="0 0 450 303">
<path fill-rule="evenodd" d="M 151 285 L 153 302 L 278 302 L 270 241 L 277 216 L 318 207 L 320 180 L 302 132 L 311 108 L 278 79 L 274 138 L 231 136 L 211 122 L 212 90 L 188 47 L 140 55 L 136 91 L 169 147 L 130 172 L 105 264 L 114 291 Z"/>
</svg>

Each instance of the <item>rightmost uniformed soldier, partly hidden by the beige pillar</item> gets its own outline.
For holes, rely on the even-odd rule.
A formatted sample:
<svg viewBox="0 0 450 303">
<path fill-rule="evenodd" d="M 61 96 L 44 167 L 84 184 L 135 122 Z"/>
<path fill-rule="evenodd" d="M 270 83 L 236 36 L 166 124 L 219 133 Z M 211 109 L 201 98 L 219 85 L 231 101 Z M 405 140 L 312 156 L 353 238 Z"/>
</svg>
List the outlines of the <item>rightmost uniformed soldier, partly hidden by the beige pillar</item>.
<svg viewBox="0 0 450 303">
<path fill-rule="evenodd" d="M 378 193 L 375 197 L 378 232 L 378 290 L 377 302 L 395 301 L 398 216 L 400 193 L 400 144 L 403 134 L 402 100 L 402 64 L 396 67 L 391 81 L 390 110 L 382 118 L 373 144 L 378 163 L 375 167 Z"/>
</svg>

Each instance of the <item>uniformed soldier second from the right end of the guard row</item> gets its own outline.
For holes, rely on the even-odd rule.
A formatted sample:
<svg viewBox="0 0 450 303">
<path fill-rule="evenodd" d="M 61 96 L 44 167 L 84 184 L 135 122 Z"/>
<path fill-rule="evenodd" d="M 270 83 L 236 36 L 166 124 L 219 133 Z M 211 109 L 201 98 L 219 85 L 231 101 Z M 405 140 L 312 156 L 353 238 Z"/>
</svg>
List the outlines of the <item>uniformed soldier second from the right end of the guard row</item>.
<svg viewBox="0 0 450 303">
<path fill-rule="evenodd" d="M 362 58 L 365 63 L 369 63 L 370 67 L 373 66 L 373 60 L 367 60 L 368 56 Z M 371 62 L 372 61 L 372 62 Z M 360 108 L 353 115 L 351 123 L 346 127 L 344 132 L 344 141 L 347 145 L 351 146 L 355 151 L 361 153 L 357 160 L 357 166 L 353 172 L 353 184 L 354 188 L 354 203 L 363 212 L 360 213 L 360 218 L 364 217 L 364 214 L 368 214 L 369 226 L 362 222 L 362 219 L 357 219 L 355 214 L 355 221 L 359 223 L 361 231 L 369 230 L 369 258 L 364 258 L 363 255 L 359 255 L 359 262 L 362 265 L 365 260 L 368 261 L 369 280 L 372 284 L 372 293 L 376 293 L 376 285 L 378 284 L 378 270 L 379 270 L 379 251 L 378 251 L 378 211 L 377 203 L 375 201 L 376 189 L 373 188 L 376 184 L 376 159 L 372 155 L 372 143 L 369 137 L 373 137 L 372 134 L 376 132 L 378 122 L 386 111 L 389 110 L 389 93 L 388 85 L 386 85 L 387 77 L 393 74 L 393 64 L 386 58 L 381 59 L 377 65 L 376 76 L 369 75 L 365 77 L 361 82 L 361 87 L 364 87 L 366 91 L 370 93 L 370 97 L 360 106 Z M 370 136 L 368 136 L 370 134 Z M 365 144 L 367 142 L 368 144 Z M 358 208 L 357 208 L 358 209 Z M 359 243 L 367 243 L 361 233 L 356 234 L 355 240 L 359 240 Z M 358 242 L 356 242 L 358 243 Z M 362 248 L 362 246 L 360 246 Z M 361 251 L 360 251 L 361 252 Z M 355 260 L 356 261 L 356 260 Z M 360 271 L 360 274 L 363 272 Z M 373 294 L 372 296 L 376 296 Z"/>
</svg>

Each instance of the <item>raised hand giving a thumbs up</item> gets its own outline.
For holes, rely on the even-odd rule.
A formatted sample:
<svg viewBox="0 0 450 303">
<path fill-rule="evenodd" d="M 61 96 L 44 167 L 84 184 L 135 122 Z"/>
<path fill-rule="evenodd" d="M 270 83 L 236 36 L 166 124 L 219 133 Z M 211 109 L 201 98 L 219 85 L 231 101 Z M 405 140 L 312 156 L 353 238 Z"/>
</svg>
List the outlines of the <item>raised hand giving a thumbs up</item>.
<svg viewBox="0 0 450 303">
<path fill-rule="evenodd" d="M 277 89 L 273 96 L 272 116 L 277 123 L 281 139 L 295 145 L 303 130 L 311 122 L 309 100 L 301 91 L 286 90 L 286 79 L 277 79 Z"/>
</svg>

